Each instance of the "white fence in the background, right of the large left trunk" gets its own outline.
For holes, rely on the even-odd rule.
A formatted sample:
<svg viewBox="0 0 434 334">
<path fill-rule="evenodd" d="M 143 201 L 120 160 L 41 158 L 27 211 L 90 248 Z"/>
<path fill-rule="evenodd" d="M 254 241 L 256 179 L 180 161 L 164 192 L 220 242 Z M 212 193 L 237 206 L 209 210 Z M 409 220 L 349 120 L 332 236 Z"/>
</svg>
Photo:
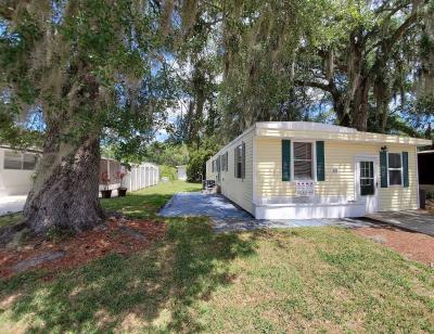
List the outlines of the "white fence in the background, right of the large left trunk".
<svg viewBox="0 0 434 334">
<path fill-rule="evenodd" d="M 157 165 L 143 163 L 132 165 L 131 170 L 124 177 L 123 185 L 129 191 L 156 185 L 159 179 L 159 168 Z"/>
</svg>

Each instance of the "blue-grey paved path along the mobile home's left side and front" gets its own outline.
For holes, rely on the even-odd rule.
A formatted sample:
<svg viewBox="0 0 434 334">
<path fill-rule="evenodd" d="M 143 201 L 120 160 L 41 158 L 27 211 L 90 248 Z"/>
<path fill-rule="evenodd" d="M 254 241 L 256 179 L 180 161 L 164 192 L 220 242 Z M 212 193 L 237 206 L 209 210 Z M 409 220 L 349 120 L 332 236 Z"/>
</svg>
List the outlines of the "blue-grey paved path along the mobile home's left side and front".
<svg viewBox="0 0 434 334">
<path fill-rule="evenodd" d="M 345 228 L 367 227 L 371 223 L 357 219 L 255 219 L 248 213 L 234 206 L 226 197 L 200 192 L 178 193 L 159 211 L 163 217 L 209 217 L 215 231 L 247 231 L 269 228 L 298 228 L 340 226 Z"/>
</svg>

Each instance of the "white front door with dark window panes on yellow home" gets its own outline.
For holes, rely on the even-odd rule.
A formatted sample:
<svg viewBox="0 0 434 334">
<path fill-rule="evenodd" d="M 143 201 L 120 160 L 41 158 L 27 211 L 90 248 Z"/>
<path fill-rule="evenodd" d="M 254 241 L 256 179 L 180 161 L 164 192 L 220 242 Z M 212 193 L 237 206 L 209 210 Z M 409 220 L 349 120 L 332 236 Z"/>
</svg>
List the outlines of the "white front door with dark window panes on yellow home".
<svg viewBox="0 0 434 334">
<path fill-rule="evenodd" d="M 367 214 L 378 210 L 378 168 L 376 157 L 356 158 L 357 200 L 365 203 Z"/>
</svg>

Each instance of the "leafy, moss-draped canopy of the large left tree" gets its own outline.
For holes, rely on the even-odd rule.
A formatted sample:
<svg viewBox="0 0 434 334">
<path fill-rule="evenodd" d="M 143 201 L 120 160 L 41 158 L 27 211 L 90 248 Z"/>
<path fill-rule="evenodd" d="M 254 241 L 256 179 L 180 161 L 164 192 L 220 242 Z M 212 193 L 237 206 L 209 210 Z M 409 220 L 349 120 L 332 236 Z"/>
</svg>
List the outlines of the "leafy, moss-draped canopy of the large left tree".
<svg viewBox="0 0 434 334">
<path fill-rule="evenodd" d="M 102 137 L 126 153 L 149 143 L 176 97 L 162 55 L 170 41 L 158 21 L 142 1 L 0 4 L 0 112 L 8 115 L 1 141 L 20 134 L 33 144 L 24 136 L 31 126 L 26 115 L 40 108 L 42 137 Z"/>
</svg>

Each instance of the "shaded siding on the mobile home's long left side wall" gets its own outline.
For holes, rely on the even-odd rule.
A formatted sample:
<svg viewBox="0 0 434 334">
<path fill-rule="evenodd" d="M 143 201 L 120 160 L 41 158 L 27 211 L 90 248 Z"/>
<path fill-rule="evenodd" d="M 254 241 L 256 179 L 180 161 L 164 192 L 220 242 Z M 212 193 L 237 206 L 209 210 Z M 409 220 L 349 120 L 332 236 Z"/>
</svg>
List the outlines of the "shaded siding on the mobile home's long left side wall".
<svg viewBox="0 0 434 334">
<path fill-rule="evenodd" d="M 206 163 L 206 178 L 217 180 L 217 172 L 212 172 L 212 160 L 228 152 L 228 171 L 221 171 L 221 193 L 230 201 L 254 215 L 253 207 L 253 133 L 248 131 L 229 145 L 219 151 Z M 234 177 L 234 149 L 242 142 L 245 143 L 245 178 Z"/>
</svg>

